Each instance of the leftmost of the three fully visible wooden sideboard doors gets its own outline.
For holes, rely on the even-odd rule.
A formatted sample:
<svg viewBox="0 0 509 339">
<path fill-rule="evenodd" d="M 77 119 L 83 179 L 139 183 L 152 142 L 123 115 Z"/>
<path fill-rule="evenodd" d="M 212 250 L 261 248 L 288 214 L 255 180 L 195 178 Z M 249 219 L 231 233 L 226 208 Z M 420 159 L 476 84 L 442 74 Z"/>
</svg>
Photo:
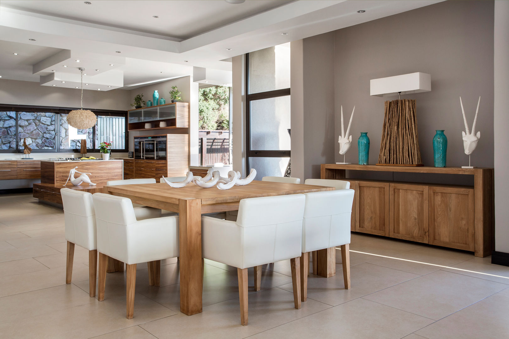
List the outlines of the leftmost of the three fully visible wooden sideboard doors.
<svg viewBox="0 0 509 339">
<path fill-rule="evenodd" d="M 355 230 L 389 236 L 389 184 L 355 182 Z"/>
</svg>

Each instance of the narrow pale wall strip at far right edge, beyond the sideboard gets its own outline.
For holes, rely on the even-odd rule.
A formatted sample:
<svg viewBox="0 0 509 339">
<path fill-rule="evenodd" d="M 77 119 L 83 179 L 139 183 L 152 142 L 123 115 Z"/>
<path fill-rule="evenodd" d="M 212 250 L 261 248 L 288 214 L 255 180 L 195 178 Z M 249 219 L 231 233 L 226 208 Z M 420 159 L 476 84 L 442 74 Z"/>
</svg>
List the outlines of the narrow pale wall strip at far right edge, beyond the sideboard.
<svg viewBox="0 0 509 339">
<path fill-rule="evenodd" d="M 495 250 L 509 253 L 509 2 L 495 1 Z"/>
</svg>

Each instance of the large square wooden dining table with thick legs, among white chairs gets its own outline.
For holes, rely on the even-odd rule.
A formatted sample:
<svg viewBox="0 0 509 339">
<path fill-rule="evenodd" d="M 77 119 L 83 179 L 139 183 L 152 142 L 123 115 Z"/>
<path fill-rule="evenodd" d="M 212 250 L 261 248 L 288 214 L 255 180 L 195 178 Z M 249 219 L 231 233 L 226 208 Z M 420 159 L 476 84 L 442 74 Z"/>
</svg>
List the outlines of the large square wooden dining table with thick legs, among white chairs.
<svg viewBox="0 0 509 339">
<path fill-rule="evenodd" d="M 188 316 L 202 312 L 202 213 L 237 210 L 240 200 L 246 198 L 332 190 L 332 187 L 256 180 L 224 191 L 215 186 L 203 189 L 192 183 L 182 188 L 172 188 L 166 183 L 106 187 L 106 193 L 129 198 L 133 203 L 179 213 L 180 312 Z"/>
</svg>

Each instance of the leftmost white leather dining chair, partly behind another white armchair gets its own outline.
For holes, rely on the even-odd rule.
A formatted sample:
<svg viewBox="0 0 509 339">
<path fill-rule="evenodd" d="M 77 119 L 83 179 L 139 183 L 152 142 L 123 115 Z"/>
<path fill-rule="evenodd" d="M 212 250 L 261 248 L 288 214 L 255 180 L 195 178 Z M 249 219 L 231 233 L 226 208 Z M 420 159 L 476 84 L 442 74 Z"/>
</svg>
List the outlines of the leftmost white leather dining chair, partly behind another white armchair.
<svg viewBox="0 0 509 339">
<path fill-rule="evenodd" d="M 72 281 L 74 245 L 89 250 L 89 295 L 95 297 L 97 276 L 97 232 L 92 194 L 63 188 L 60 190 L 64 206 L 65 237 L 67 240 L 66 284 Z M 134 214 L 138 220 L 157 215 L 150 207 L 137 207 Z M 160 215 L 160 213 L 159 213 Z M 121 271 L 124 264 L 120 263 Z"/>
</svg>

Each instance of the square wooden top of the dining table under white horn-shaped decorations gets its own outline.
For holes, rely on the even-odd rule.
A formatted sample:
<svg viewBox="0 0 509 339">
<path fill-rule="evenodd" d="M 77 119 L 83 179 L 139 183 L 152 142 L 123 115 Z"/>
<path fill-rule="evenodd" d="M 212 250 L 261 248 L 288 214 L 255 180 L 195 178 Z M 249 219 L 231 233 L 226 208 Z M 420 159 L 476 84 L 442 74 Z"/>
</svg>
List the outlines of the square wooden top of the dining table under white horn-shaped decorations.
<svg viewBox="0 0 509 339">
<path fill-rule="evenodd" d="M 218 211 L 220 206 L 212 204 L 221 204 L 225 206 L 238 206 L 241 199 L 268 197 L 287 194 L 298 194 L 307 192 L 332 191 L 334 188 L 325 186 L 305 185 L 298 183 L 258 181 L 253 180 L 245 186 L 234 186 L 229 190 L 219 190 L 217 187 L 200 188 L 194 183 L 189 183 L 182 188 L 170 187 L 165 182 L 162 183 L 144 183 L 119 186 L 108 186 L 108 194 L 127 197 L 134 203 L 144 204 L 146 206 L 162 208 L 178 212 L 180 199 L 200 199 L 204 213 Z M 227 207 L 224 207 L 227 208 Z M 230 208 L 230 210 L 235 208 Z M 229 210 L 224 209 L 224 210 Z"/>
</svg>

